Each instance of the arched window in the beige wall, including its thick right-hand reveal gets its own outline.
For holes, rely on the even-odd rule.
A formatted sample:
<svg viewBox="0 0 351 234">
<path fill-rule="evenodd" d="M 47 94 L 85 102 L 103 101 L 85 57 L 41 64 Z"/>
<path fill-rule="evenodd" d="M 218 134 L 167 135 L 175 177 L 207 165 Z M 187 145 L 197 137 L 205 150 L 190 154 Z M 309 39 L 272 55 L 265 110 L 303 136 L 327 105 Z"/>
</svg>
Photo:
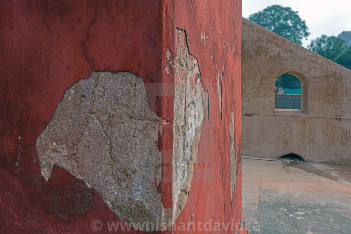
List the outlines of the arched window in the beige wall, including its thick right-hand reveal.
<svg viewBox="0 0 351 234">
<path fill-rule="evenodd" d="M 304 75 L 290 71 L 277 78 L 274 99 L 276 112 L 294 110 L 307 114 L 308 97 L 308 82 Z"/>
</svg>

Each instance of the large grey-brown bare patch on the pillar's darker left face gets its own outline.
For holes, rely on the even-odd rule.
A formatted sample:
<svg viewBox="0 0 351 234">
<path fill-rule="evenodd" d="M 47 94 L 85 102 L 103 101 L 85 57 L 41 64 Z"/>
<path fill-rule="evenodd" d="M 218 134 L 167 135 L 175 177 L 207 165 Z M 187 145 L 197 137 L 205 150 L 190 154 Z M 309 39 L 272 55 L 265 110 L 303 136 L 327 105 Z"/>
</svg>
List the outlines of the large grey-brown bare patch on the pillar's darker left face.
<svg viewBox="0 0 351 234">
<path fill-rule="evenodd" d="M 167 223 L 161 202 L 158 133 L 165 121 L 148 106 L 143 79 L 92 72 L 68 88 L 37 140 L 41 173 L 57 164 L 97 190 L 121 220 Z M 166 221 L 167 220 L 167 221 Z"/>
</svg>

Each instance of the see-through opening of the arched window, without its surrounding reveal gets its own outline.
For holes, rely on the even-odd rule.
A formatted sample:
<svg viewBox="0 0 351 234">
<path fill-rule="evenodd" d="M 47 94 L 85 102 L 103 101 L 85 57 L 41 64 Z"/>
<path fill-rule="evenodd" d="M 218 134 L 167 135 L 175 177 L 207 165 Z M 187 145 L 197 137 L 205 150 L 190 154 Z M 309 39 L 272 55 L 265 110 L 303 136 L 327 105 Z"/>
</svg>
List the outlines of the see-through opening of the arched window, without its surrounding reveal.
<svg viewBox="0 0 351 234">
<path fill-rule="evenodd" d="M 294 75 L 285 73 L 276 80 L 275 109 L 301 110 L 301 81 Z"/>
</svg>

